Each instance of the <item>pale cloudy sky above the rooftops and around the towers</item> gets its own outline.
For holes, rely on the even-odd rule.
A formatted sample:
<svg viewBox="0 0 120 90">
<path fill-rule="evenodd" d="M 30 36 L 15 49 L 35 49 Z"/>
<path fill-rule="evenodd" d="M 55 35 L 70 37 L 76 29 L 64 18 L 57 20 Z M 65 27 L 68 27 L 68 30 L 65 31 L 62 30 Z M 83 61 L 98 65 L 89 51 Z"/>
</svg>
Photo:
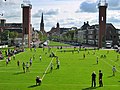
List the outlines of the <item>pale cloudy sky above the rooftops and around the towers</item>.
<svg viewBox="0 0 120 90">
<path fill-rule="evenodd" d="M 84 22 L 90 25 L 98 24 L 99 0 L 24 0 L 30 1 L 31 24 L 35 30 L 40 30 L 41 14 L 44 15 L 45 30 L 50 31 L 59 22 L 61 28 L 80 28 Z M 104 0 L 101 0 L 104 1 Z M 120 0 L 106 0 L 107 23 L 112 23 L 120 29 Z M 7 23 L 22 23 L 23 0 L 0 0 L 0 13 Z"/>
</svg>

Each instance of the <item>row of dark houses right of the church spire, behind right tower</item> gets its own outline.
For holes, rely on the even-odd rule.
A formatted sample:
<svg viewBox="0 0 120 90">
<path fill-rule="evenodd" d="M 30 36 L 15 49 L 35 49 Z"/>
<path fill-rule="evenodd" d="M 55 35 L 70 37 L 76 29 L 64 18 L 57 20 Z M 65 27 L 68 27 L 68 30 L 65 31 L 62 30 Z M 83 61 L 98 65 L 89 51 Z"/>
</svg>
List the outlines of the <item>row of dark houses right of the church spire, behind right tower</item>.
<svg viewBox="0 0 120 90">
<path fill-rule="evenodd" d="M 57 23 L 58 24 L 58 23 Z M 83 26 L 79 29 L 77 28 L 59 28 L 56 26 L 53 27 L 48 33 L 49 37 L 63 37 L 63 35 L 69 31 L 74 30 L 74 42 L 79 42 L 82 44 L 89 45 L 98 45 L 98 33 L 99 33 L 99 24 L 90 25 L 89 22 L 84 22 Z M 69 40 L 68 37 L 67 40 Z M 61 38 L 59 38 L 61 39 Z M 77 39 L 77 40 L 76 40 Z M 120 29 L 116 29 L 113 24 L 106 24 L 106 35 L 103 37 L 103 42 L 111 42 L 113 45 L 120 44 Z"/>
</svg>

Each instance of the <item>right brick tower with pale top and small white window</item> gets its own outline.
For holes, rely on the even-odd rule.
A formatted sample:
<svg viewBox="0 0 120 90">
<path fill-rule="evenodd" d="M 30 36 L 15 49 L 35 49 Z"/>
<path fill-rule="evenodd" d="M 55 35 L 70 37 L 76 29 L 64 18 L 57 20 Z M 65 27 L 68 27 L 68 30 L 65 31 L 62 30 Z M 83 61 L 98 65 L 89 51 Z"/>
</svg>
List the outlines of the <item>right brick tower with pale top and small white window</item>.
<svg viewBox="0 0 120 90">
<path fill-rule="evenodd" d="M 106 0 L 100 0 L 98 4 L 99 8 L 99 37 L 98 37 L 98 47 L 102 48 L 105 43 L 106 34 L 106 9 L 108 4 Z"/>
</svg>

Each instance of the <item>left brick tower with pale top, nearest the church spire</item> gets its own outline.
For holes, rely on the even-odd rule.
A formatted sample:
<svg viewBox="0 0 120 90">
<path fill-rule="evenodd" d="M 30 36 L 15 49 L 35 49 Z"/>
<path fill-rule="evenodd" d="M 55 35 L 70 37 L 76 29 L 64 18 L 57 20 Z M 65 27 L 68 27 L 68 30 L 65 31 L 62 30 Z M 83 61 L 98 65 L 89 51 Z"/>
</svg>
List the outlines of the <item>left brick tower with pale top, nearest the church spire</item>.
<svg viewBox="0 0 120 90">
<path fill-rule="evenodd" d="M 31 42 L 31 9 L 32 5 L 29 0 L 23 0 L 22 7 L 22 24 L 23 24 L 23 38 L 22 43 L 30 47 Z"/>
</svg>

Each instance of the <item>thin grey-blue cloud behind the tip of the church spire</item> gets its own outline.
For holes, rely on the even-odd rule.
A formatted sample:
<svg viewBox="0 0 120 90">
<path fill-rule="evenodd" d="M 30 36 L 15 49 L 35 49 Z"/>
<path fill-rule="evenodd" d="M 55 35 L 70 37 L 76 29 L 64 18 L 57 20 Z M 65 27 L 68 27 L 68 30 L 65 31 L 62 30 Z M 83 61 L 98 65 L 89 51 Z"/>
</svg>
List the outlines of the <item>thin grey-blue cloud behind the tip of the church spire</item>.
<svg viewBox="0 0 120 90">
<path fill-rule="evenodd" d="M 49 10 L 40 9 L 35 14 L 33 14 L 33 17 L 40 17 L 42 13 L 44 15 L 58 15 L 59 9 L 49 9 Z"/>
</svg>

